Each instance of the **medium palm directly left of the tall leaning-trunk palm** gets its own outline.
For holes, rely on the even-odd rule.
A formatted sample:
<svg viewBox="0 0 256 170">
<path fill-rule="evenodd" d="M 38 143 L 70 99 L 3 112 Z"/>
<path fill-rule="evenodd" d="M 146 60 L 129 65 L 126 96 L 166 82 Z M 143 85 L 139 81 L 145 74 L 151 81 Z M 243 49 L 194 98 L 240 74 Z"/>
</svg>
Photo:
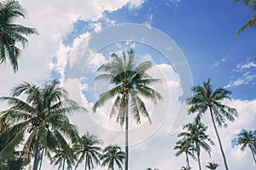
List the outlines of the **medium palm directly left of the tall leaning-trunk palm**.
<svg viewBox="0 0 256 170">
<path fill-rule="evenodd" d="M 199 169 L 201 170 L 201 148 L 206 150 L 207 153 L 211 153 L 210 144 L 214 144 L 212 139 L 209 138 L 209 135 L 206 134 L 207 127 L 204 126 L 201 122 L 188 123 L 183 126 L 183 129 L 186 129 L 187 132 L 178 133 L 178 137 L 182 137 L 184 139 L 184 147 L 186 145 L 193 144 L 195 147 L 195 152 L 197 154 L 197 161 Z M 210 144 L 207 144 L 209 142 Z"/>
</svg>

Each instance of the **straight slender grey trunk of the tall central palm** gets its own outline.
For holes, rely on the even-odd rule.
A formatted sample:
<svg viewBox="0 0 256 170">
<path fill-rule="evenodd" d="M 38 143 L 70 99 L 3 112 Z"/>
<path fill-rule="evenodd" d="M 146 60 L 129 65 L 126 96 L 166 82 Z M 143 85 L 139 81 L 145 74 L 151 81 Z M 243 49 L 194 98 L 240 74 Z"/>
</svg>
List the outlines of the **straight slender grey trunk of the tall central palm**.
<svg viewBox="0 0 256 170">
<path fill-rule="evenodd" d="M 128 116 L 128 96 L 126 95 L 125 104 L 125 170 L 128 170 L 129 160 L 129 142 L 128 142 L 128 130 L 129 130 L 129 116 Z"/>
</svg>

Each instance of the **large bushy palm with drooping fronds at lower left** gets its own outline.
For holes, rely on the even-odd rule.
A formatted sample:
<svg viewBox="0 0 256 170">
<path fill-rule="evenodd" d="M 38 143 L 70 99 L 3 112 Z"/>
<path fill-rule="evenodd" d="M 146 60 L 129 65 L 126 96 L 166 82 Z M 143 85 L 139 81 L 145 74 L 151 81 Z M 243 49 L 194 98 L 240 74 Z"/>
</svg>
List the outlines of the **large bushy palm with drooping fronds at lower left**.
<svg viewBox="0 0 256 170">
<path fill-rule="evenodd" d="M 67 91 L 56 80 L 46 82 L 43 87 L 23 82 L 12 92 L 12 97 L 0 98 L 11 105 L 8 110 L 1 112 L 0 122 L 11 122 L 12 126 L 6 132 L 15 132 L 15 137 L 1 150 L 0 157 L 8 154 L 25 139 L 21 157 L 30 161 L 33 156 L 33 170 L 38 170 L 38 163 L 42 161 L 39 158 L 43 153 L 67 144 L 67 138 L 75 139 L 78 136 L 67 113 L 85 109 L 67 99 Z M 24 94 L 26 100 L 16 98 L 20 94 Z M 25 134 L 27 138 L 24 138 Z"/>
</svg>

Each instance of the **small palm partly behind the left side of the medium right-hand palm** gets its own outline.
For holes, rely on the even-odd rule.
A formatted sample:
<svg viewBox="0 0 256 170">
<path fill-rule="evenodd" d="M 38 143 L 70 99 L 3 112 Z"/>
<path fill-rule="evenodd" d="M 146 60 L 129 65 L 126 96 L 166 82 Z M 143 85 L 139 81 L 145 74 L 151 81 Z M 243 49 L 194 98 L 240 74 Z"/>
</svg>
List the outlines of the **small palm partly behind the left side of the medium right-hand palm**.
<svg viewBox="0 0 256 170">
<path fill-rule="evenodd" d="M 186 139 L 179 139 L 176 142 L 176 145 L 174 146 L 174 150 L 177 150 L 175 153 L 175 156 L 180 156 L 181 154 L 185 153 L 186 155 L 186 161 L 187 161 L 187 167 L 190 167 L 189 165 L 189 156 L 192 157 L 195 160 L 195 147 L 194 144 L 191 144 L 190 142 L 187 142 Z"/>
</svg>

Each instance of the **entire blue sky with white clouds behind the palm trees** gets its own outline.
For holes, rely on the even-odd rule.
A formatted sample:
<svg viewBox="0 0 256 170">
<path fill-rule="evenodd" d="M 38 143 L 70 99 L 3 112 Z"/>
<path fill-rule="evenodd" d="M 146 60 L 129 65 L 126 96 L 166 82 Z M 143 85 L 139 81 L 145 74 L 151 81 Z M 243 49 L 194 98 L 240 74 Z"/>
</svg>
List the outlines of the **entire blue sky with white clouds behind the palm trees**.
<svg viewBox="0 0 256 170">
<path fill-rule="evenodd" d="M 20 0 L 26 8 L 26 26 L 38 29 L 19 60 L 19 71 L 13 73 L 7 63 L 0 67 L 0 96 L 20 82 L 41 84 L 60 78 L 70 97 L 89 111 L 99 94 L 110 88 L 95 81 L 96 69 L 108 61 L 110 54 L 122 54 L 134 48 L 137 61 L 151 60 L 149 73 L 162 79 L 156 88 L 164 101 L 152 105 L 145 100 L 152 125 L 143 120 L 136 125 L 131 119 L 130 169 L 158 167 L 176 170 L 185 165 L 185 157 L 174 156 L 173 146 L 179 127 L 189 122 L 183 99 L 192 85 L 212 78 L 213 88 L 232 91 L 224 103 L 237 109 L 239 117 L 229 127 L 219 129 L 230 169 L 253 169 L 249 150 L 241 152 L 232 139 L 245 128 L 255 129 L 256 113 L 256 31 L 236 31 L 253 11 L 232 0 Z M 129 24 L 128 24 L 129 23 Z M 111 102 L 96 114 L 72 116 L 81 134 L 89 131 L 105 144 L 124 143 L 123 129 L 108 120 Z M 2 108 L 7 105 L 1 104 Z M 214 161 L 223 169 L 218 141 L 209 116 L 203 122 L 215 146 L 212 156 L 202 154 L 202 165 Z M 197 169 L 195 161 L 192 167 Z M 79 166 L 83 169 L 83 165 Z M 52 169 L 47 161 L 44 169 Z M 98 167 L 97 169 L 104 169 Z"/>
</svg>

